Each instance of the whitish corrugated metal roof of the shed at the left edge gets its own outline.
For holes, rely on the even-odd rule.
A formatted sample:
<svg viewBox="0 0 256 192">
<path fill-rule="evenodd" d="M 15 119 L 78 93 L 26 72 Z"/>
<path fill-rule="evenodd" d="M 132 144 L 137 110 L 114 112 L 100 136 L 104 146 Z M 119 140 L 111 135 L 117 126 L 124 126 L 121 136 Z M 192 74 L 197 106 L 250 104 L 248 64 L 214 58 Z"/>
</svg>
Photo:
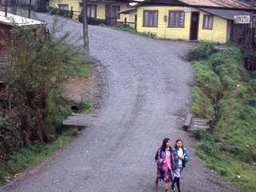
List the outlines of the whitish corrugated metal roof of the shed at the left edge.
<svg viewBox="0 0 256 192">
<path fill-rule="evenodd" d="M 7 26 L 13 26 L 14 23 L 18 26 L 35 26 L 35 25 L 46 25 L 46 22 L 38 22 L 34 19 L 23 18 L 21 16 L 15 14 L 7 14 L 7 18 L 5 16 L 5 12 L 0 11 L 0 23 L 5 24 Z"/>
</svg>

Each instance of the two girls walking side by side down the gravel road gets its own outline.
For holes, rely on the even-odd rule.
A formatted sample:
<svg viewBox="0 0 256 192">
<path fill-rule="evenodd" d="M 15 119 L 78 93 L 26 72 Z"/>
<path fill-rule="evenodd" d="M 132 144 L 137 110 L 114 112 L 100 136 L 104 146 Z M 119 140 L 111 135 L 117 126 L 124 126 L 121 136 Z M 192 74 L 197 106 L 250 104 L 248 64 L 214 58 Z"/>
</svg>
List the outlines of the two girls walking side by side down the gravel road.
<svg viewBox="0 0 256 192">
<path fill-rule="evenodd" d="M 180 177 L 182 170 L 186 167 L 186 163 L 190 160 L 190 155 L 185 147 L 183 147 L 182 140 L 178 139 L 175 142 L 175 146 L 172 149 L 170 147 L 170 138 L 165 138 L 162 142 L 162 146 L 159 148 L 156 157 L 156 163 L 158 165 L 157 177 L 154 182 L 154 187 L 158 188 L 158 180 L 165 182 L 166 192 L 169 192 L 169 184 L 171 183 L 171 189 L 176 191 L 175 183 L 180 189 Z M 171 175 L 171 170 L 174 174 L 174 180 Z"/>
</svg>

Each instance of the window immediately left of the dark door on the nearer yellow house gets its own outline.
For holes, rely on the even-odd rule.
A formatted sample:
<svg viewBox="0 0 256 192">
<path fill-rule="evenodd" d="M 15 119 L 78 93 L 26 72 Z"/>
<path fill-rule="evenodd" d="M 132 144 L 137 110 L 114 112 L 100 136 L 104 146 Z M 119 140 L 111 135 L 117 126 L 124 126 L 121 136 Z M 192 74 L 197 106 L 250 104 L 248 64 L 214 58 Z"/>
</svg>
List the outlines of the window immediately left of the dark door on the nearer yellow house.
<svg viewBox="0 0 256 192">
<path fill-rule="evenodd" d="M 168 27 L 184 27 L 184 12 L 183 11 L 169 11 Z"/>
</svg>

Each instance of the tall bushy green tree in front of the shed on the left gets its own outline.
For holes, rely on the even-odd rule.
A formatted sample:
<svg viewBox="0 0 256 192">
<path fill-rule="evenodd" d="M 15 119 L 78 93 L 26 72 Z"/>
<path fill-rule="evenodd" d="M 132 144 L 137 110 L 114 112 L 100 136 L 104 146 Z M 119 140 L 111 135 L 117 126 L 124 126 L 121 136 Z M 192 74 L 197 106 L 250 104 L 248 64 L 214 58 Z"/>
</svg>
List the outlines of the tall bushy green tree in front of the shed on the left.
<svg viewBox="0 0 256 192">
<path fill-rule="evenodd" d="M 60 30 L 51 30 L 50 37 L 44 33 L 45 26 L 36 29 L 16 26 L 10 30 L 11 40 L 5 42 L 11 56 L 11 65 L 6 70 L 7 84 L 14 94 L 14 105 L 22 106 L 22 144 L 50 142 L 58 122 L 55 102 L 58 100 L 58 85 L 66 66 L 77 62 L 80 46 L 69 44 L 70 32 L 62 36 Z M 58 34 L 58 38 L 54 38 Z M 53 40 L 54 39 L 54 40 Z"/>
</svg>

